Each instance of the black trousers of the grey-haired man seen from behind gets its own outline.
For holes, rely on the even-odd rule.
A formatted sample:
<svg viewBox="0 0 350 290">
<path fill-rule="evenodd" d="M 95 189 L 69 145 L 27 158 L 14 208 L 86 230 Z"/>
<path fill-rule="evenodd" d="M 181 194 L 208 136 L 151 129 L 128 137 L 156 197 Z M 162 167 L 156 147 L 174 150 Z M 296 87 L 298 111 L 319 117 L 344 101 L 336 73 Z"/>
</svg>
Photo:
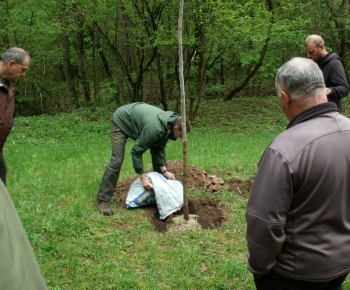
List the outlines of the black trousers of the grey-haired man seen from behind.
<svg viewBox="0 0 350 290">
<path fill-rule="evenodd" d="M 294 280 L 270 271 L 261 278 L 254 277 L 257 290 L 341 290 L 348 274 L 328 282 Z"/>
</svg>

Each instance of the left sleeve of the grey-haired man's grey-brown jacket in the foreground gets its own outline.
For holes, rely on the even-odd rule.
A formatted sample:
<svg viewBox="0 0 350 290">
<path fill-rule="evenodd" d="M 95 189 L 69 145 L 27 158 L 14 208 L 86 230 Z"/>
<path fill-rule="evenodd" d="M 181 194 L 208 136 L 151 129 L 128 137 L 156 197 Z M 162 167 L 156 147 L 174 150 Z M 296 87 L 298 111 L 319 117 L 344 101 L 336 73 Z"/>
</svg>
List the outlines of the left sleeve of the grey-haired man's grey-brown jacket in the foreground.
<svg viewBox="0 0 350 290">
<path fill-rule="evenodd" d="M 248 268 L 256 277 L 274 268 L 284 244 L 284 227 L 293 197 L 291 176 L 286 159 L 279 152 L 267 149 L 246 209 Z"/>
</svg>

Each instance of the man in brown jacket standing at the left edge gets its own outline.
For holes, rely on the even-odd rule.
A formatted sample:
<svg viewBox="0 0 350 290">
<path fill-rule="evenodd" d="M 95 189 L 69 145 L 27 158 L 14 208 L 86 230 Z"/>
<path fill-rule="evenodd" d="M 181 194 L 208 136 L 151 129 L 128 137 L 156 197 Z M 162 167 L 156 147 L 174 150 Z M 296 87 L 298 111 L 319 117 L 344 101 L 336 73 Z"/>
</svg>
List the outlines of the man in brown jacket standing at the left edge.
<svg viewBox="0 0 350 290">
<path fill-rule="evenodd" d="M 0 59 L 0 179 L 5 185 L 7 168 L 2 150 L 13 125 L 14 83 L 26 75 L 29 63 L 29 54 L 18 47 L 7 49 Z"/>
</svg>

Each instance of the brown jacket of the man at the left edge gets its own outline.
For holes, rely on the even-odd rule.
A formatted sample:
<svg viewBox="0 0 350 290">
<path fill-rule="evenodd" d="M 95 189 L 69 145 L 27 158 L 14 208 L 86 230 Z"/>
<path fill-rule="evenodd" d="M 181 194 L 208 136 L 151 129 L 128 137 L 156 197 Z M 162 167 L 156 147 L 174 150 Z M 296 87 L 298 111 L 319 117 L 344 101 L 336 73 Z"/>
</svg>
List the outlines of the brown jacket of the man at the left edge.
<svg viewBox="0 0 350 290">
<path fill-rule="evenodd" d="M 15 112 L 15 87 L 13 82 L 9 82 L 8 88 L 0 78 L 0 157 L 7 136 L 11 132 L 13 125 L 13 115 Z"/>
</svg>

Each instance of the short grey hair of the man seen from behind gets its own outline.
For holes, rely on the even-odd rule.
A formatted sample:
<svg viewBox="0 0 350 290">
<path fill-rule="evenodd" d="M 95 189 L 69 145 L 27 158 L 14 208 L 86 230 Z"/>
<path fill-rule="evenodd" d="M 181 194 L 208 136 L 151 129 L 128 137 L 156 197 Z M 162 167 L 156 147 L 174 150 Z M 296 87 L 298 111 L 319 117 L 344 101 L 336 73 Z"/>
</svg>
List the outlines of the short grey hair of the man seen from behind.
<svg viewBox="0 0 350 290">
<path fill-rule="evenodd" d="M 324 78 L 318 65 L 311 59 L 294 57 L 282 65 L 275 78 L 277 95 L 286 91 L 300 101 L 317 98 L 319 89 L 325 90 Z"/>
</svg>

